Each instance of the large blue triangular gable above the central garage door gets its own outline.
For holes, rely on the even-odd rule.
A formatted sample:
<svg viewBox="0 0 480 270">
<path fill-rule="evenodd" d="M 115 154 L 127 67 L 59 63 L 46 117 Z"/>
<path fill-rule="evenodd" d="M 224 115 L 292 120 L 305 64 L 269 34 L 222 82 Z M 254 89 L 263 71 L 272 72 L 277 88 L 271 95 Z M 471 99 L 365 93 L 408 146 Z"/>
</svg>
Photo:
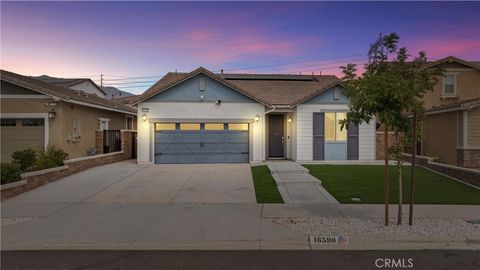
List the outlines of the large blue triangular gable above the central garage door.
<svg viewBox="0 0 480 270">
<path fill-rule="evenodd" d="M 205 90 L 200 90 L 200 81 L 205 81 Z M 178 85 L 160 92 L 146 101 L 203 101 L 221 100 L 227 102 L 255 102 L 204 74 L 198 74 Z"/>
</svg>

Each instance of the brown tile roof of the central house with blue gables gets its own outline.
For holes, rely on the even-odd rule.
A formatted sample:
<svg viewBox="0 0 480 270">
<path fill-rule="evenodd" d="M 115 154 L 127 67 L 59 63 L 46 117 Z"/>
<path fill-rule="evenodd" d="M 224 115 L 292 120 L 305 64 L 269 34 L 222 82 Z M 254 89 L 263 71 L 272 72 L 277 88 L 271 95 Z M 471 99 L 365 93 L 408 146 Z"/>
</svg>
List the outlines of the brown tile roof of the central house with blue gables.
<svg viewBox="0 0 480 270">
<path fill-rule="evenodd" d="M 333 75 L 288 74 L 215 74 L 203 67 L 190 73 L 167 73 L 132 102 L 138 104 L 166 91 L 198 74 L 204 74 L 268 107 L 286 105 L 294 107 L 321 92 L 340 84 Z"/>
</svg>

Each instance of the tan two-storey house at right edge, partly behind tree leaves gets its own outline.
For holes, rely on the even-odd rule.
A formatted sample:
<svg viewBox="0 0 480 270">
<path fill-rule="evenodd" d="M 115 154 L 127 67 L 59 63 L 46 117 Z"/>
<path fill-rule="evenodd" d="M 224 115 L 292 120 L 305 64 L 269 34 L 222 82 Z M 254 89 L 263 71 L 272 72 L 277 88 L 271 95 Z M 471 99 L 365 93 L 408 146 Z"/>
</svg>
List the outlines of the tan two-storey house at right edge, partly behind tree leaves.
<svg viewBox="0 0 480 270">
<path fill-rule="evenodd" d="M 426 119 L 417 154 L 480 167 L 480 62 L 453 56 L 429 63 L 444 70 L 424 97 Z"/>
</svg>

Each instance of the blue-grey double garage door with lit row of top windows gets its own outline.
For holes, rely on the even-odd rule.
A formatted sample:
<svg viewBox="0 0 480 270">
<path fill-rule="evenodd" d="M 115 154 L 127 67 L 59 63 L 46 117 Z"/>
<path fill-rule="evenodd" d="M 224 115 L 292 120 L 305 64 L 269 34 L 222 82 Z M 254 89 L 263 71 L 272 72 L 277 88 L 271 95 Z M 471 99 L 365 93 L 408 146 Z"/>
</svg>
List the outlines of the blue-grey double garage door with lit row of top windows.
<svg viewBox="0 0 480 270">
<path fill-rule="evenodd" d="M 155 163 L 244 163 L 248 123 L 156 123 Z"/>
</svg>

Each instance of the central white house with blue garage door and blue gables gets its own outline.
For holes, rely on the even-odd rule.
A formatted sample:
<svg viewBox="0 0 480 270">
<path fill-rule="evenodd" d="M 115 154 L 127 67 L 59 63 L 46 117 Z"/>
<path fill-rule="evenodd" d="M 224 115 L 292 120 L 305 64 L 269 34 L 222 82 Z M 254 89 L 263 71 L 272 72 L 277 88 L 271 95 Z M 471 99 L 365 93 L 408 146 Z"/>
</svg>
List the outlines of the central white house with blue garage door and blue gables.
<svg viewBox="0 0 480 270">
<path fill-rule="evenodd" d="M 341 129 L 335 76 L 168 73 L 132 102 L 138 163 L 374 160 L 375 122 Z"/>
</svg>

